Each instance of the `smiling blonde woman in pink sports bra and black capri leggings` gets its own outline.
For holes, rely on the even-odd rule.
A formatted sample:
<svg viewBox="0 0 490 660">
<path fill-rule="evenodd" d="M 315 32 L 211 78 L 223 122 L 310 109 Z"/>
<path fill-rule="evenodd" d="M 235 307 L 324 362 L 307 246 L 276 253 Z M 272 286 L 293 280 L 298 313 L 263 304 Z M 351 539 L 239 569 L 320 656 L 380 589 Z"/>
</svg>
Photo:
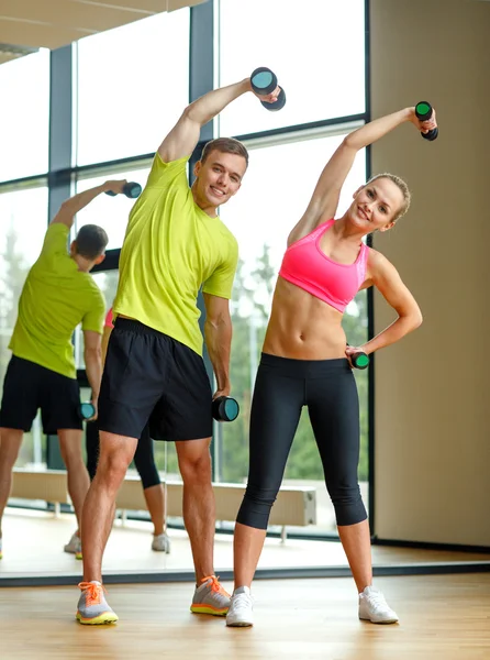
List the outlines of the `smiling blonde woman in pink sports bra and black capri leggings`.
<svg viewBox="0 0 490 660">
<path fill-rule="evenodd" d="M 349 356 L 392 344 L 422 322 L 394 266 L 363 242 L 369 233 L 394 227 L 409 208 L 410 193 L 400 178 L 378 175 L 356 190 L 342 218 L 334 216 L 357 152 L 407 121 L 422 132 L 436 125 L 435 113 L 420 122 L 415 109 L 407 108 L 347 135 L 289 234 L 254 391 L 248 484 L 236 518 L 229 626 L 253 625 L 250 584 L 304 405 L 359 594 L 359 618 L 379 624 L 398 620 L 371 584 L 369 526 L 357 482 L 359 407 Z M 369 286 L 379 289 L 398 319 L 366 344 L 347 346 L 343 312 L 357 292 Z"/>
</svg>

